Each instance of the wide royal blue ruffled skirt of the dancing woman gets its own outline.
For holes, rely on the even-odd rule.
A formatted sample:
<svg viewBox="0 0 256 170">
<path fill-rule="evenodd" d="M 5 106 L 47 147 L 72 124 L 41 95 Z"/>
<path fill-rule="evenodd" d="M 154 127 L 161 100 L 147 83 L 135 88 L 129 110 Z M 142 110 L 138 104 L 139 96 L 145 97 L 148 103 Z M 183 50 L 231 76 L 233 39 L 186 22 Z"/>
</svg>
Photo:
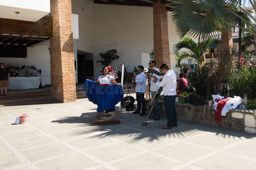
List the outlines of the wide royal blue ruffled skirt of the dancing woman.
<svg viewBox="0 0 256 170">
<path fill-rule="evenodd" d="M 124 97 L 121 85 L 101 86 L 92 80 L 86 79 L 83 89 L 85 89 L 89 101 L 97 104 L 97 112 L 115 111 L 116 104 Z"/>
</svg>

